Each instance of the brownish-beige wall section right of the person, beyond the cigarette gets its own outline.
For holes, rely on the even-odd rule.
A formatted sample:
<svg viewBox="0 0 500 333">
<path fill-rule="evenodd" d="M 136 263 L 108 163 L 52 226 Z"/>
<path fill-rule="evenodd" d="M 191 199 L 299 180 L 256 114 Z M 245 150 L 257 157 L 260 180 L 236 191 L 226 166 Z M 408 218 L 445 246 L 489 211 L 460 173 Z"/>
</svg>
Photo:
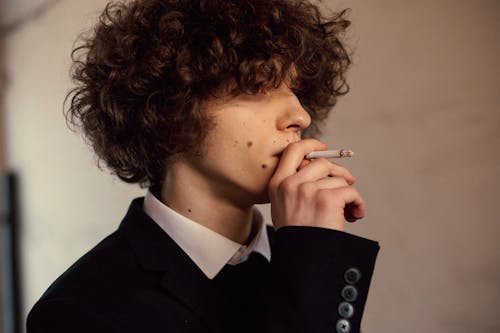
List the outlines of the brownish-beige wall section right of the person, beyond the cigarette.
<svg viewBox="0 0 500 333">
<path fill-rule="evenodd" d="M 330 122 L 381 241 L 366 332 L 500 332 L 500 2 L 359 1 Z"/>
</svg>

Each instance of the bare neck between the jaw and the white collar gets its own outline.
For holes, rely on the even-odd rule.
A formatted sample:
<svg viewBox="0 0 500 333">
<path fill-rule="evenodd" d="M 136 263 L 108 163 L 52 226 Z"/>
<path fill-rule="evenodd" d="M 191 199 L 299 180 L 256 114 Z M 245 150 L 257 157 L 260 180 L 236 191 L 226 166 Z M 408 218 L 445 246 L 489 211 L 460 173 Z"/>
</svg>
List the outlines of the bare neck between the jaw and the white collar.
<svg viewBox="0 0 500 333">
<path fill-rule="evenodd" d="M 253 207 L 231 202 L 210 180 L 189 164 L 176 162 L 168 170 L 160 200 L 187 218 L 237 242 L 251 240 Z"/>
</svg>

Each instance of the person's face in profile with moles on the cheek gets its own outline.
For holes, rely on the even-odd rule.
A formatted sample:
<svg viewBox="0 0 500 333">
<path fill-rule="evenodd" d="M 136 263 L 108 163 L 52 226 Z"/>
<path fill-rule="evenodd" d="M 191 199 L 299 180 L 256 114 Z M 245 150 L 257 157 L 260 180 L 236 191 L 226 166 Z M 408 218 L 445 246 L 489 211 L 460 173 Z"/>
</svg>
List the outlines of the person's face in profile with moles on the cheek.
<svg viewBox="0 0 500 333">
<path fill-rule="evenodd" d="M 311 123 L 290 88 L 217 99 L 206 105 L 215 126 L 192 166 L 223 199 L 268 202 L 267 184 L 285 147 Z"/>
</svg>

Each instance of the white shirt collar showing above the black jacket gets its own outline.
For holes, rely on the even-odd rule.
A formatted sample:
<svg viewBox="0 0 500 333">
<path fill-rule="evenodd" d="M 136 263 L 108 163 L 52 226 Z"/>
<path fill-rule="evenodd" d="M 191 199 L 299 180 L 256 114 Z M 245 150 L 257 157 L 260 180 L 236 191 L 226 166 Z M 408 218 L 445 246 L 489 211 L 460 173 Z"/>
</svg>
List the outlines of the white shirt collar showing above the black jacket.
<svg viewBox="0 0 500 333">
<path fill-rule="evenodd" d="M 144 198 L 144 211 L 191 258 L 198 268 L 213 279 L 226 265 L 244 262 L 252 252 L 271 260 L 271 248 L 262 214 L 254 208 L 254 223 L 258 232 L 250 244 L 239 244 L 171 209 L 150 190 Z"/>
</svg>

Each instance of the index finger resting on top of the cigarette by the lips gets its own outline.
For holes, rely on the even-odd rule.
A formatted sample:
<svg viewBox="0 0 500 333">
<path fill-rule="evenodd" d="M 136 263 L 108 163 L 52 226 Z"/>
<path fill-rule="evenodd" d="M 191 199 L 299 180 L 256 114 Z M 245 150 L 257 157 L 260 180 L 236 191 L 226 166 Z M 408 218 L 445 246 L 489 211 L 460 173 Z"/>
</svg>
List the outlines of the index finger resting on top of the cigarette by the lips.
<svg viewBox="0 0 500 333">
<path fill-rule="evenodd" d="M 316 139 L 304 139 L 289 144 L 281 155 L 280 162 L 271 178 L 270 184 L 279 185 L 289 176 L 297 173 L 304 157 L 315 150 L 328 149 L 327 145 Z"/>
</svg>

